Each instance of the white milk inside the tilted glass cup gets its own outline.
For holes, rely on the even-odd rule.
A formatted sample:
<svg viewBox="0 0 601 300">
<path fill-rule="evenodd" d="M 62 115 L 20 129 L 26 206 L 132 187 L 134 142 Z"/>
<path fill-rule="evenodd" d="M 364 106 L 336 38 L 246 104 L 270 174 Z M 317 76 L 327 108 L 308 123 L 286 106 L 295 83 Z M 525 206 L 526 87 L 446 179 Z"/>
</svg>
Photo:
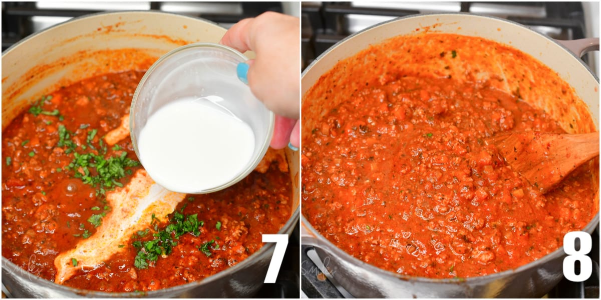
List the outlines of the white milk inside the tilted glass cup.
<svg viewBox="0 0 601 300">
<path fill-rule="evenodd" d="M 231 181 L 251 160 L 251 127 L 221 109 L 221 98 L 186 97 L 161 107 L 139 136 L 148 174 L 171 191 L 198 193 Z"/>
</svg>

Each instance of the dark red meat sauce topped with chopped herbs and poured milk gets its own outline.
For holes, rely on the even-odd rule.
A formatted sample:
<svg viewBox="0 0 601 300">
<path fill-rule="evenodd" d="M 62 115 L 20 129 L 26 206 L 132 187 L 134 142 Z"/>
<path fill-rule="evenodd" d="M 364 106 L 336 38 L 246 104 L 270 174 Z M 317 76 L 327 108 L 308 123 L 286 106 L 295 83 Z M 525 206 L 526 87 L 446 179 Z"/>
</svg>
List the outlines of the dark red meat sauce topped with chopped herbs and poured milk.
<svg viewBox="0 0 601 300">
<path fill-rule="evenodd" d="M 67 168 L 74 152 L 102 149 L 102 137 L 129 113 L 141 71 L 103 74 L 63 86 L 38 106 L 36 114 L 21 113 L 2 133 L 2 256 L 47 280 L 55 280 L 54 259 L 96 227 L 90 217 L 110 214 L 98 189 L 84 184 Z M 34 110 L 35 112 L 35 110 Z M 41 112 L 41 113 L 40 113 Z M 71 133 L 75 151 L 61 146 L 61 127 Z M 95 134 L 90 134 L 96 130 Z M 64 134 L 64 133 L 63 133 Z M 95 146 L 94 149 L 90 145 Z M 106 148 L 106 157 L 137 160 L 127 137 Z M 84 149 L 85 148 L 85 149 Z M 290 217 L 290 177 L 278 164 L 264 173 L 253 172 L 238 184 L 212 194 L 188 195 L 176 211 L 198 214 L 200 235 L 186 233 L 172 253 L 135 267 L 135 241 L 148 241 L 156 229 L 134 236 L 93 271 L 81 272 L 67 286 L 108 292 L 162 289 L 216 274 L 246 259 L 263 246 L 263 233 L 276 233 Z M 127 184 L 141 166 L 132 166 L 118 185 Z M 211 242 L 212 241 L 212 242 Z M 207 244 L 208 243 L 208 244 Z M 204 251 L 201 246 L 207 244 Z"/>
</svg>

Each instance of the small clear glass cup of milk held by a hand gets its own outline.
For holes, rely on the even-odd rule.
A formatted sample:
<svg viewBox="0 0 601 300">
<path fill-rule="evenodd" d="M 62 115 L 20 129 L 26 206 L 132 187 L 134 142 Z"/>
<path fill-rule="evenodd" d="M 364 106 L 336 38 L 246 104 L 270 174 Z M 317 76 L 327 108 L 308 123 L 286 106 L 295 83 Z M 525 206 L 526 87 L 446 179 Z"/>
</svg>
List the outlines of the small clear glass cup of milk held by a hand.
<svg viewBox="0 0 601 300">
<path fill-rule="evenodd" d="M 188 44 L 186 46 L 178 47 L 172 50 L 166 55 L 162 56 L 156 61 L 144 74 L 142 80 L 138 84 L 138 88 L 135 91 L 132 99 L 132 106 L 130 107 L 130 135 L 132 137 L 133 148 L 140 159 L 142 166 L 148 172 L 148 175 L 154 179 L 158 184 L 167 188 L 168 190 L 178 191 L 189 194 L 201 194 L 211 193 L 213 191 L 222 190 L 227 188 L 236 182 L 246 177 L 257 164 L 263 158 L 269 142 L 273 134 L 273 122 L 274 115 L 267 109 L 260 100 L 258 100 L 251 92 L 250 88 L 244 83 L 240 82 L 236 75 L 236 67 L 240 62 L 245 62 L 248 59 L 237 50 L 231 49 L 230 47 L 223 46 L 221 44 L 213 43 L 195 43 Z M 173 103 L 177 101 L 184 101 L 186 99 L 192 99 L 198 104 L 209 107 L 216 112 L 222 113 L 223 115 L 231 115 L 233 118 L 244 122 L 252 130 L 254 134 L 254 147 L 252 148 L 252 154 L 249 153 L 250 158 L 248 160 L 243 159 L 239 163 L 244 166 L 236 166 L 237 172 L 231 173 L 231 178 L 223 179 L 221 182 L 212 181 L 211 186 L 207 186 L 206 182 L 198 182 L 198 188 L 192 188 L 189 184 L 186 187 L 180 185 L 175 176 L 166 175 L 174 174 L 171 171 L 186 170 L 186 163 L 182 164 L 182 152 L 178 149 L 174 149 L 171 155 L 162 155 L 164 163 L 160 163 L 160 167 L 173 167 L 174 169 L 157 169 L 150 167 L 151 162 L 145 161 L 149 152 L 144 151 L 158 151 L 156 147 L 153 148 L 140 148 L 140 137 L 142 136 L 142 130 L 147 124 L 153 124 L 151 118 L 158 118 L 160 113 L 166 109 L 172 110 Z M 157 114 L 159 112 L 159 114 Z M 182 111 L 182 115 L 189 115 L 189 111 Z M 154 116 L 154 117 L 153 117 Z M 149 123 L 148 121 L 151 120 Z M 188 137 L 196 137 L 196 134 L 207 134 L 211 133 L 211 130 L 221 130 L 222 125 L 219 122 L 207 124 L 204 128 L 183 128 L 186 131 Z M 150 128 L 150 127 L 149 127 Z M 199 131 L 199 130 L 204 130 Z M 207 132 L 209 131 L 209 132 Z M 174 134 L 180 134 L 178 131 Z M 148 136 L 147 133 L 145 133 Z M 146 137 L 144 137 L 147 139 Z M 223 136 L 223 139 L 236 139 L 236 136 Z M 227 140 L 230 141 L 230 140 Z M 221 140 L 224 142 L 224 140 Z M 156 144 L 155 144 L 156 145 Z M 203 143 L 200 147 L 214 147 L 213 148 L 199 148 L 200 150 L 211 149 L 213 153 L 222 154 L 227 151 L 234 153 L 235 149 L 232 149 L 232 143 L 229 143 L 228 149 L 215 148 L 216 144 L 211 145 L 210 141 L 207 141 L 206 145 Z M 222 143 L 219 143 L 222 145 Z M 225 145 L 225 144 L 224 144 Z M 244 146 L 244 145 L 240 145 Z M 189 150 L 189 149 L 186 149 Z M 206 172 L 207 175 L 211 175 L 211 172 L 223 171 L 215 170 L 215 167 L 219 165 L 218 159 L 214 157 L 195 157 L 191 155 L 192 152 L 187 151 L 188 157 L 192 159 L 205 159 L 208 165 L 212 167 L 198 167 L 195 172 Z M 155 155 L 156 156 L 156 155 Z M 219 155 L 218 155 L 219 156 Z M 234 157 L 234 156 L 233 156 Z M 188 159 L 186 158 L 186 159 Z M 238 157 L 235 157 L 238 158 Z M 156 159 L 156 158 L 153 158 Z M 168 166 L 169 161 L 179 161 L 180 165 Z M 156 163 L 156 161 L 154 162 Z M 222 161 L 222 163 L 231 163 L 231 161 Z M 191 170 L 186 170 L 189 174 L 194 175 Z M 171 176 L 171 178 L 169 177 Z M 205 177 L 205 179 L 215 179 L 213 176 Z M 189 178 L 186 177 L 186 180 Z M 179 179 L 182 181 L 182 178 Z"/>
</svg>

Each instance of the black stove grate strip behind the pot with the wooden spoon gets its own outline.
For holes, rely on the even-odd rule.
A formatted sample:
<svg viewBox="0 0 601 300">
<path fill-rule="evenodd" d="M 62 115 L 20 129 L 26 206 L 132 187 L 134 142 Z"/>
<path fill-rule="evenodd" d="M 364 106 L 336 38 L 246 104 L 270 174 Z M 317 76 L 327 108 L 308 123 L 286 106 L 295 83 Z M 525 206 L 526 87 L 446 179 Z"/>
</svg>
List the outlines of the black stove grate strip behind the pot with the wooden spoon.
<svg viewBox="0 0 601 300">
<path fill-rule="evenodd" d="M 586 32 L 580 2 L 302 2 L 301 12 L 303 67 L 355 32 L 418 13 L 502 17 L 559 40 L 584 38 Z"/>
</svg>

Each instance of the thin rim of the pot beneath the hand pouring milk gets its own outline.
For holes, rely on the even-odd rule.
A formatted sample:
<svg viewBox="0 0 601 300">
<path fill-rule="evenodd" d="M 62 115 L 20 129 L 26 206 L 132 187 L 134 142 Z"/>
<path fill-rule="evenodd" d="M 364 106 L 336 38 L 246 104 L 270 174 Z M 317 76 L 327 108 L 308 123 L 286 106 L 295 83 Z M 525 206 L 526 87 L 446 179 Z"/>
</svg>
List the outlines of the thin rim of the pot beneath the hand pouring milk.
<svg viewBox="0 0 601 300">
<path fill-rule="evenodd" d="M 37 37 L 37 35 L 46 33 L 47 31 L 50 31 L 50 29 L 54 29 L 54 28 L 58 28 L 59 26 L 67 25 L 67 23 L 81 21 L 84 19 L 91 19 L 94 17 L 107 16 L 107 15 L 123 14 L 123 15 L 129 17 L 132 13 L 133 14 L 141 14 L 141 15 L 142 14 L 172 15 L 172 16 L 176 16 L 176 17 L 185 17 L 187 19 L 193 20 L 194 22 L 201 21 L 201 22 L 206 22 L 209 25 L 219 26 L 215 22 L 212 22 L 210 20 L 205 20 L 200 17 L 190 17 L 190 16 L 185 16 L 183 14 L 167 13 L 167 12 L 163 12 L 163 11 L 154 11 L 154 10 L 150 10 L 150 11 L 126 10 L 126 11 L 113 11 L 113 12 L 108 12 L 108 13 L 106 13 L 106 12 L 92 13 L 92 14 L 86 14 L 84 16 L 73 17 L 72 19 L 69 19 L 65 22 L 58 23 L 58 24 L 50 26 L 49 28 L 46 28 L 42 31 L 35 32 L 34 34 L 28 35 L 27 37 L 23 38 L 22 40 L 20 40 L 13 46 L 10 46 L 8 49 L 4 50 L 2 52 L 2 58 L 4 58 L 4 55 L 6 55 L 8 52 L 15 49 L 17 46 L 24 43 L 25 41 L 28 41 L 31 38 Z M 219 26 L 219 27 L 222 28 L 222 26 Z M 300 203 L 299 203 L 299 205 L 296 207 L 296 209 L 294 209 L 294 211 L 291 212 L 290 218 L 288 218 L 286 223 L 284 223 L 282 228 L 280 230 L 278 230 L 277 233 L 278 234 L 287 234 L 288 236 L 290 236 L 292 230 L 294 229 L 294 226 L 296 226 L 296 224 L 299 223 L 299 215 L 300 214 L 301 214 L 301 210 L 300 210 Z M 238 269 L 245 268 L 246 265 L 249 265 L 252 261 L 256 260 L 258 257 L 264 256 L 264 254 L 266 254 L 268 251 L 272 250 L 272 248 L 274 248 L 274 247 L 275 247 L 274 243 L 265 243 L 265 245 L 263 245 L 263 247 L 261 247 L 255 253 L 252 253 L 250 256 L 246 257 L 246 259 L 242 260 L 242 262 L 239 262 L 235 266 L 231 266 L 230 268 L 227 268 L 221 272 L 218 272 L 216 274 L 213 274 L 213 275 L 203 278 L 201 280 L 192 281 L 191 283 L 186 283 L 186 284 L 180 284 L 178 286 L 168 287 L 166 289 L 158 289 L 158 290 L 151 290 L 151 291 L 145 291 L 145 292 L 101 292 L 98 290 L 79 289 L 76 287 L 70 287 L 70 286 L 64 286 L 62 284 L 56 284 L 53 281 L 46 280 L 44 278 L 38 277 L 37 275 L 29 273 L 28 271 L 21 268 L 20 266 L 15 265 L 13 262 L 11 262 L 9 259 L 7 259 L 4 256 L 2 256 L 2 272 L 3 273 L 5 272 L 4 269 L 10 269 L 11 271 L 7 271 L 7 272 L 14 273 L 17 276 L 23 277 L 23 278 L 29 277 L 29 281 L 31 281 L 34 284 L 40 284 L 40 285 L 50 284 L 50 286 L 52 286 L 56 290 L 59 290 L 60 292 L 74 293 L 75 295 L 80 295 L 80 296 L 95 297 L 95 298 L 139 298 L 140 296 L 147 296 L 150 298 L 156 298 L 157 296 L 159 296 L 163 293 L 182 293 L 182 292 L 185 292 L 186 290 L 193 289 L 194 287 L 202 286 L 205 284 L 210 284 L 213 281 L 219 280 L 223 277 L 228 277 L 231 274 L 235 274 L 238 271 Z M 2 281 L 4 284 L 4 280 L 2 280 Z"/>
</svg>

